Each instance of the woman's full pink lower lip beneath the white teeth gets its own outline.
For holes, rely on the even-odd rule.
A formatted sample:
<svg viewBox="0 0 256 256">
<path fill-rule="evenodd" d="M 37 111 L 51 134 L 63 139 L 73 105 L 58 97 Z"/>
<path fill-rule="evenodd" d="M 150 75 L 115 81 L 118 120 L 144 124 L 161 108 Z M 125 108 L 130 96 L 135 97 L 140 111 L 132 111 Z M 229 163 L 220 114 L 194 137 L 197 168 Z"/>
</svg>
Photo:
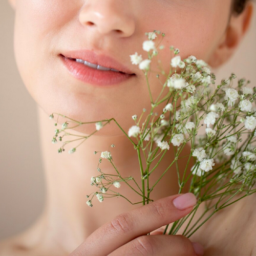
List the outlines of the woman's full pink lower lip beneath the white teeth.
<svg viewBox="0 0 256 256">
<path fill-rule="evenodd" d="M 129 75 L 110 70 L 97 70 L 75 60 L 69 59 L 63 55 L 60 55 L 60 57 L 66 68 L 75 78 L 84 83 L 90 83 L 95 86 L 111 86 L 113 84 L 119 84 L 135 76 L 135 74 Z"/>
</svg>

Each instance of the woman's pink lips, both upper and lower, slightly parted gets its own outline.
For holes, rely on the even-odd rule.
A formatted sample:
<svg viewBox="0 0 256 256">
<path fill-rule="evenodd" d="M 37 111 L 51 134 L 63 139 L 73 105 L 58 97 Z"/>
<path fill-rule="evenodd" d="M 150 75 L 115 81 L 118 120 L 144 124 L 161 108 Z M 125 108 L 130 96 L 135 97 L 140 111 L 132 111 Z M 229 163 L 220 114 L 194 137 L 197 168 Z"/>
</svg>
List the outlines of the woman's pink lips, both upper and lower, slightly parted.
<svg viewBox="0 0 256 256">
<path fill-rule="evenodd" d="M 136 76 L 129 68 L 113 58 L 106 55 L 97 55 L 93 51 L 83 50 L 62 52 L 59 56 L 68 71 L 75 78 L 84 83 L 90 83 L 97 86 L 111 86 Z M 83 59 L 106 68 L 119 70 L 120 72 L 97 70 L 77 62 L 75 59 Z"/>
</svg>

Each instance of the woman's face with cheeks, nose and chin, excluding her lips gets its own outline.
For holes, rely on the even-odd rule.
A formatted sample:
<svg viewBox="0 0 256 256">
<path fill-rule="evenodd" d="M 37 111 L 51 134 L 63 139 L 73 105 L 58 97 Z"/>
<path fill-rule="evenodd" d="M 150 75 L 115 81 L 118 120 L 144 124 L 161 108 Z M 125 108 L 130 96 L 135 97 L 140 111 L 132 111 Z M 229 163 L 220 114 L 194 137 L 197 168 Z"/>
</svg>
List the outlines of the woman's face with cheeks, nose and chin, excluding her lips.
<svg viewBox="0 0 256 256">
<path fill-rule="evenodd" d="M 159 50 L 158 59 L 167 73 L 171 45 L 180 49 L 182 59 L 194 55 L 210 63 L 225 33 L 230 5 L 231 0 L 207 4 L 205 0 L 18 0 L 17 67 L 27 90 L 48 115 L 57 112 L 82 122 L 114 117 L 127 131 L 134 125 L 132 115 L 151 109 L 144 73 L 132 65 L 129 56 L 138 52 L 147 58 L 142 50 L 145 32 L 165 33 L 161 42 L 165 48 Z M 136 76 L 105 87 L 78 80 L 63 65 L 60 54 L 85 49 L 113 57 Z M 151 68 L 158 71 L 155 58 Z M 162 89 L 156 74 L 151 73 L 149 79 L 153 99 Z M 160 79 L 165 81 L 164 76 Z M 95 125 L 82 125 L 77 131 L 90 134 Z M 97 133 L 121 134 L 114 124 Z"/>
</svg>

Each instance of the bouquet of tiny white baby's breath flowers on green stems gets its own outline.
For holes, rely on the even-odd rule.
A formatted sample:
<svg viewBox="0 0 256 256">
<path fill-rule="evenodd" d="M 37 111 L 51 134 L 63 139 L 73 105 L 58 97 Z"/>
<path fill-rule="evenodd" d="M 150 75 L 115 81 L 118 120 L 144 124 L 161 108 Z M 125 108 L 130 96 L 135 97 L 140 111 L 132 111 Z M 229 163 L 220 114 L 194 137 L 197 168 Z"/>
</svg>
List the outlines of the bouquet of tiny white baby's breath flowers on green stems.
<svg viewBox="0 0 256 256">
<path fill-rule="evenodd" d="M 127 184 L 141 196 L 142 201 L 136 203 L 148 204 L 153 201 L 150 198 L 153 188 L 173 166 L 178 174 L 179 193 L 183 193 L 184 185 L 191 178 L 189 192 L 195 194 L 198 202 L 189 215 L 174 222 L 168 232 L 169 234 L 176 234 L 189 216 L 193 218 L 202 202 L 210 202 L 212 199 L 219 198 L 216 204 L 206 207 L 204 214 L 207 211 L 211 212 L 206 220 L 199 223 L 201 219 L 199 218 L 192 227 L 189 227 L 189 221 L 183 235 L 190 237 L 215 212 L 256 191 L 256 147 L 253 146 L 256 141 L 256 108 L 254 105 L 256 88 L 247 87 L 250 81 L 245 79 L 240 79 L 237 86 L 234 87 L 233 79 L 236 78 L 234 74 L 231 74 L 226 80 L 223 79 L 221 84 L 215 86 L 216 76 L 211 73 L 206 62 L 192 55 L 182 60 L 179 56 L 179 49 L 170 46 L 169 50 L 173 55 L 170 60 L 170 71 L 167 75 L 161 69 L 161 74 L 165 75 L 166 80 L 162 84 L 161 93 L 153 101 L 147 77 L 151 71 L 151 62 L 158 55 L 158 46 L 165 34 L 160 31 L 145 34 L 147 40 L 143 42 L 143 50 L 148 53 L 148 58 L 143 60 L 137 52 L 130 55 L 130 58 L 132 63 L 138 65 L 138 68 L 146 77 L 152 106 L 150 113 L 144 119 L 145 109 L 142 110 L 139 118 L 136 114 L 133 115 L 132 119 L 135 124 L 127 132 L 122 129 L 115 118 L 95 121 L 94 132 L 96 133 L 111 121 L 119 126 L 127 139 L 131 141 L 131 146 L 134 146 L 137 150 L 140 166 L 138 171 L 141 174 L 141 181 L 136 181 L 132 176 L 122 177 L 118 171 L 118 166 L 114 164 L 109 148 L 108 151 L 101 152 L 97 166 L 99 174 L 91 178 L 91 185 L 95 185 L 97 191 L 87 196 L 89 198 L 87 204 L 92 207 L 92 200 L 95 196 L 99 202 L 102 202 L 104 198 L 121 196 L 132 203 L 128 198 L 114 191 L 115 188 L 120 187 L 121 183 Z M 160 34 L 162 39 L 156 46 L 154 40 Z M 160 50 L 163 48 L 164 46 L 159 47 Z M 178 68 L 181 69 L 180 74 L 176 72 Z M 157 77 L 159 77 L 159 74 L 157 74 Z M 165 89 L 168 93 L 162 95 Z M 159 115 L 154 113 L 155 108 L 163 102 L 165 102 L 165 107 L 162 113 Z M 50 118 L 53 119 L 55 114 L 57 113 L 51 114 Z M 68 118 L 65 115 L 57 115 Z M 168 116 L 168 118 L 165 116 Z M 86 124 L 71 118 L 68 119 L 69 121 L 62 124 L 61 130 L 55 130 L 53 143 L 57 143 L 57 137 L 62 132 L 64 134 L 58 137 L 59 141 L 62 141 L 64 136 L 71 135 L 65 132 L 67 129 L 74 127 L 68 126 L 71 122 L 74 122 L 76 126 Z M 57 123 L 55 123 L 56 125 Z M 80 139 L 84 141 L 90 136 Z M 135 138 L 136 142 L 132 140 L 132 137 Z M 58 152 L 65 151 L 64 146 L 70 142 L 72 141 L 64 142 Z M 187 143 L 190 144 L 191 151 L 183 177 L 181 177 L 179 175 L 178 159 L 181 158 L 181 152 Z M 78 146 L 71 148 L 69 153 L 76 152 Z M 111 147 L 114 146 L 114 144 L 111 145 Z M 169 166 L 157 182 L 149 187 L 150 175 L 170 147 L 173 147 L 174 159 L 170 159 Z M 141 156 L 140 149 L 143 156 Z M 94 154 L 97 153 L 94 152 Z M 152 166 L 153 160 L 157 158 L 159 159 L 158 163 Z M 102 172 L 100 169 L 102 159 L 107 159 L 113 165 L 116 175 L 106 175 Z M 145 169 L 143 169 L 142 161 L 146 162 Z M 193 161 L 194 164 L 191 169 L 188 169 L 189 161 Z M 187 172 L 189 175 L 185 178 Z M 238 199 L 231 202 L 234 196 Z M 167 227 L 168 225 L 164 233 Z"/>
</svg>

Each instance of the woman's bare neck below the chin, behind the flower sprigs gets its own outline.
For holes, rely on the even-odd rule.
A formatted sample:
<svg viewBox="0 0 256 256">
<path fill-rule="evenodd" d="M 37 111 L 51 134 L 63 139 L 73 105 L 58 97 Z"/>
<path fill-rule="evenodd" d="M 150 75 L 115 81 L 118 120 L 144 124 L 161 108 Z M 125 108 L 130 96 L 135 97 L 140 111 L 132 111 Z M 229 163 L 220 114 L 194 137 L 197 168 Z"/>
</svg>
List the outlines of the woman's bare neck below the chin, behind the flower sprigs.
<svg viewBox="0 0 256 256">
<path fill-rule="evenodd" d="M 109 222 L 121 212 L 142 205 L 134 204 L 141 202 L 142 198 L 124 182 L 120 182 L 120 188 L 112 186 L 111 189 L 129 199 L 133 204 L 123 197 L 104 198 L 103 202 L 99 202 L 96 196 L 92 200 L 93 207 L 86 204 L 88 200 L 86 196 L 98 191 L 96 186 L 90 184 L 92 176 L 100 175 L 97 166 L 101 153 L 95 155 L 94 151 L 108 151 L 110 148 L 113 161 L 122 178 L 132 176 L 141 187 L 137 151 L 134 150 L 132 143 L 124 135 L 92 136 L 77 147 L 75 153 L 68 154 L 68 151 L 78 145 L 79 141 L 78 143 L 76 141 L 72 142 L 74 144 L 67 144 L 65 146 L 66 151 L 58 154 L 58 148 L 62 146 L 62 142 L 58 141 L 56 144 L 51 142 L 56 126 L 54 126 L 53 120 L 50 120 L 49 116 L 39 107 L 38 124 L 42 162 L 44 162 L 43 167 L 46 175 L 46 204 L 41 216 L 44 226 L 48 227 L 47 231 L 44 231 L 49 233 L 48 235 L 45 234 L 46 236 L 59 238 L 63 248 L 72 251 L 104 223 Z M 84 134 L 76 131 L 72 131 L 72 134 L 84 136 Z M 110 147 L 111 144 L 115 144 L 115 147 Z M 185 151 L 185 154 L 189 155 L 190 148 Z M 143 155 L 141 156 L 143 157 Z M 174 152 L 170 147 L 170 150 L 167 151 L 161 163 L 150 176 L 150 187 L 155 184 L 173 159 Z M 158 161 L 159 158 L 153 161 L 152 167 Z M 183 163 L 180 163 L 182 168 L 185 168 L 186 162 L 184 162 L 183 159 Z M 143 161 L 143 169 L 145 166 Z M 102 159 L 99 167 L 104 174 L 117 175 L 116 170 L 107 159 Z M 128 183 L 136 188 L 133 180 L 128 181 Z M 138 188 L 136 190 L 139 191 Z M 182 193 L 186 193 L 186 190 L 187 187 L 184 187 Z M 150 198 L 155 201 L 162 197 L 178 194 L 178 192 L 178 177 L 173 165 L 157 183 L 150 194 Z"/>
</svg>

